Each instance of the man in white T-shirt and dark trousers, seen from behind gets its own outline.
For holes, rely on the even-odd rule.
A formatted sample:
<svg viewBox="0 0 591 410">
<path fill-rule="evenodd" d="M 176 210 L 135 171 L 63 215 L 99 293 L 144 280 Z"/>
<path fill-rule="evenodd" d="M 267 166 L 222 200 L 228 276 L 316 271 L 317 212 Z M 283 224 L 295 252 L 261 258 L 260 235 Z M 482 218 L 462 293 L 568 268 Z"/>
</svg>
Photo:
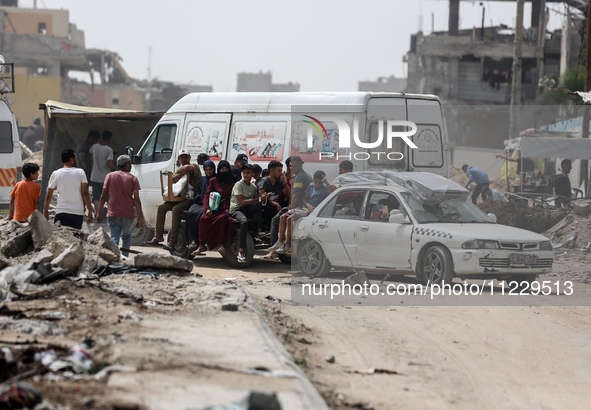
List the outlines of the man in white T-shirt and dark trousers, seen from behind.
<svg viewBox="0 0 591 410">
<path fill-rule="evenodd" d="M 88 220 L 92 222 L 92 206 L 88 195 L 88 180 L 82 168 L 77 168 L 76 153 L 67 148 L 62 152 L 63 168 L 53 171 L 49 177 L 47 195 L 43 215 L 49 219 L 49 204 L 53 197 L 53 191 L 57 190 L 57 210 L 54 222 L 62 225 L 81 229 L 84 221 L 84 204 L 88 209 Z M 82 195 L 80 195 L 82 192 Z M 84 202 L 82 199 L 84 198 Z"/>
</svg>

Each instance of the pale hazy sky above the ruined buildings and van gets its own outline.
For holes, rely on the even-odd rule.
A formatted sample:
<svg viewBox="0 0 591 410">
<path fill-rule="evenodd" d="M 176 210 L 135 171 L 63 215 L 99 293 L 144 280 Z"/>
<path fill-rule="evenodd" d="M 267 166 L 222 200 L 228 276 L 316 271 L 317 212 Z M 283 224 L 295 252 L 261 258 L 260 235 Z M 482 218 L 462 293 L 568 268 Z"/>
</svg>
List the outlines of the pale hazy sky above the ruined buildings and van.
<svg viewBox="0 0 591 410">
<path fill-rule="evenodd" d="M 235 91 L 239 72 L 273 74 L 300 91 L 355 91 L 407 75 L 410 35 L 447 30 L 447 0 L 37 0 L 66 9 L 87 48 L 117 52 L 129 75 Z M 480 4 L 483 4 L 482 6 Z M 33 7 L 33 0 L 19 6 Z M 551 4 L 553 9 L 562 6 Z M 460 28 L 515 25 L 514 2 L 462 1 Z M 525 6 L 529 27 L 531 5 Z M 420 18 L 422 16 L 422 19 Z M 551 13 L 549 28 L 563 17 Z M 150 58 L 150 51 L 151 58 Z"/>
</svg>

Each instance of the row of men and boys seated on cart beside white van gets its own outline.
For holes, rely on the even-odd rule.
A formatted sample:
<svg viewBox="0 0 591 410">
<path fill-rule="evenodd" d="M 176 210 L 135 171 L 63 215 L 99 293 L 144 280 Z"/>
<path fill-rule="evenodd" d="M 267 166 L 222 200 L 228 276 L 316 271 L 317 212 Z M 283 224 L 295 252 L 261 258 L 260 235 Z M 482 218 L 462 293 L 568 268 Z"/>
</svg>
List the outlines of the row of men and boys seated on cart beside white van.
<svg viewBox="0 0 591 410">
<path fill-rule="evenodd" d="M 218 251 L 225 255 L 225 248 L 222 243 L 210 242 L 204 237 L 217 235 L 217 229 L 211 229 L 212 225 L 207 224 L 211 232 L 200 232 L 199 225 L 201 218 L 207 217 L 209 210 L 209 198 L 216 187 L 220 191 L 222 207 L 228 216 L 240 222 L 240 250 L 238 261 L 244 262 L 245 239 L 248 230 L 248 219 L 255 219 L 257 223 L 259 239 L 270 238 L 273 244 L 265 259 L 275 259 L 279 253 L 291 252 L 291 226 L 297 219 L 308 215 L 324 198 L 334 189 L 326 179 L 323 171 L 316 171 L 313 178 L 304 171 L 302 158 L 292 156 L 285 161 L 286 170 L 283 171 L 283 164 L 272 160 L 268 163 L 267 169 L 263 170 L 258 165 L 248 163 L 245 154 L 239 154 L 233 165 L 226 161 L 220 161 L 216 165 L 209 160 L 206 154 L 199 154 L 197 164 L 191 164 L 191 155 L 186 149 L 182 149 L 178 156 L 179 168 L 172 178 L 172 182 L 178 182 L 184 175 L 187 176 L 189 184 L 188 196 L 180 202 L 164 202 L 158 206 L 156 218 L 155 236 L 151 244 L 164 242 L 164 221 L 166 213 L 172 211 L 172 224 L 168 234 L 168 241 L 164 249 L 172 250 L 176 246 L 179 235 L 180 222 L 184 211 L 187 211 L 186 238 L 189 242 L 189 250 L 194 255 L 203 254 L 206 246 L 210 249 L 210 243 L 218 247 Z M 229 166 L 232 176 L 222 178 L 225 174 L 226 165 Z M 343 161 L 339 165 L 339 173 L 351 172 L 353 164 L 350 161 Z M 229 174 L 229 173 L 228 173 Z M 232 184 L 230 190 L 219 189 L 219 185 L 211 185 L 213 178 L 224 180 L 224 183 Z M 254 188 L 256 187 L 256 189 Z M 228 201 L 224 196 L 229 195 Z M 205 205 L 204 205 L 205 203 Z M 206 209 L 205 209 L 206 208 Z M 211 215 L 211 212 L 210 212 Z M 217 228 L 221 228 L 218 225 Z"/>
</svg>

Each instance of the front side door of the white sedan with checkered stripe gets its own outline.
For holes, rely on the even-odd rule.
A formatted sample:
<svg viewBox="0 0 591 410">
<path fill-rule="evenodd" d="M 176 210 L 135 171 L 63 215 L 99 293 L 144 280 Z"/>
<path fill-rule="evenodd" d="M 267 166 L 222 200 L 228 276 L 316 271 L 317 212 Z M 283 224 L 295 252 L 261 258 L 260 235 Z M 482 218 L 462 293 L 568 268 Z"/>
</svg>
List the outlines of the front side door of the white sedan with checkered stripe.
<svg viewBox="0 0 591 410">
<path fill-rule="evenodd" d="M 379 216 L 387 206 L 404 211 L 392 192 L 371 190 L 357 229 L 356 259 L 360 267 L 410 269 L 412 224 L 390 223 Z"/>
</svg>

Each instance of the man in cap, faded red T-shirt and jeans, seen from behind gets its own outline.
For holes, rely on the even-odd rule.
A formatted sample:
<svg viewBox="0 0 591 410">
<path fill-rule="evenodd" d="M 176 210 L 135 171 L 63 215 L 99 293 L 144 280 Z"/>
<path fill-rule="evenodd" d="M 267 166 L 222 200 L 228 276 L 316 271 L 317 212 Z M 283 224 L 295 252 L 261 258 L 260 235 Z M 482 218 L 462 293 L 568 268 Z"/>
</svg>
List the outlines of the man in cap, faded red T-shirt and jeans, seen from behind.
<svg viewBox="0 0 591 410">
<path fill-rule="evenodd" d="M 129 155 L 120 155 L 117 158 L 118 171 L 111 172 L 105 177 L 103 193 L 101 194 L 99 209 L 103 209 L 107 196 L 109 208 L 107 209 L 107 224 L 111 231 L 111 239 L 119 246 L 119 238 L 122 240 L 122 254 L 129 256 L 131 246 L 131 228 L 133 218 L 137 212 L 137 226 L 142 226 L 142 203 L 140 202 L 138 179 L 131 175 L 131 158 Z M 135 211 L 133 207 L 135 206 Z M 97 214 L 97 222 L 103 219 L 102 213 Z"/>
</svg>

